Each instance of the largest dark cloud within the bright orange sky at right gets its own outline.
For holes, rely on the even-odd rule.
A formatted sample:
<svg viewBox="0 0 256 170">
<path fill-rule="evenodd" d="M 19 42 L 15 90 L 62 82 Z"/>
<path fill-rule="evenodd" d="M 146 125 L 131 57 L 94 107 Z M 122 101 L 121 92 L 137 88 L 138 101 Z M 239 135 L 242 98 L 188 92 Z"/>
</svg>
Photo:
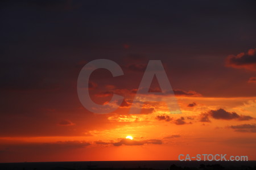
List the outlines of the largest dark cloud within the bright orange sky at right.
<svg viewBox="0 0 256 170">
<path fill-rule="evenodd" d="M 239 115 L 236 112 L 227 112 L 224 109 L 210 110 L 208 113 L 200 114 L 200 122 L 210 122 L 209 117 L 217 120 L 238 120 L 247 121 L 252 120 L 254 117 Z"/>
</svg>

